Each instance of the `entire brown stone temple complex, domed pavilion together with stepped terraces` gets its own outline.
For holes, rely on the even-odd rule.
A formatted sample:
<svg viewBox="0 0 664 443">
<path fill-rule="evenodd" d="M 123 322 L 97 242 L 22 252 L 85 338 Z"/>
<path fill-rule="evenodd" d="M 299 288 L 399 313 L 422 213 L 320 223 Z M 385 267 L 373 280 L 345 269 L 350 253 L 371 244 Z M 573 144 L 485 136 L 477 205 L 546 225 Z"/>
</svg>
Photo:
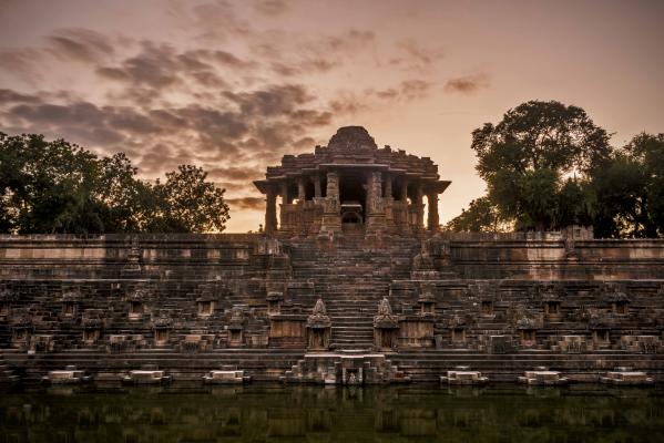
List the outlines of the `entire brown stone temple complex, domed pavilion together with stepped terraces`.
<svg viewBox="0 0 664 443">
<path fill-rule="evenodd" d="M 0 381 L 662 380 L 663 239 L 440 233 L 449 184 L 344 127 L 265 233 L 0 236 Z"/>
</svg>

